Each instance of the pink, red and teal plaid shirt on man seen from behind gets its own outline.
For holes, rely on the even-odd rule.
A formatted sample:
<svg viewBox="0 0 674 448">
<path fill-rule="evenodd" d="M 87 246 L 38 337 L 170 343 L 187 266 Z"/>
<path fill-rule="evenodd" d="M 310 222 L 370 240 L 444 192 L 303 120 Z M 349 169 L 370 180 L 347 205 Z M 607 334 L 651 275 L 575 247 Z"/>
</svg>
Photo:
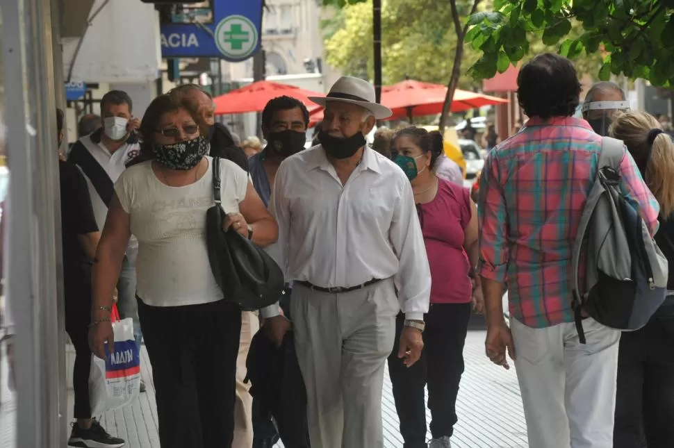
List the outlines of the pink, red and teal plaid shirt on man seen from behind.
<svg viewBox="0 0 674 448">
<path fill-rule="evenodd" d="M 507 283 L 510 315 L 527 326 L 573 322 L 571 252 L 601 144 L 583 119 L 532 118 L 487 156 L 478 271 Z M 627 151 L 620 174 L 628 201 L 655 233 L 659 206 Z"/>
</svg>

